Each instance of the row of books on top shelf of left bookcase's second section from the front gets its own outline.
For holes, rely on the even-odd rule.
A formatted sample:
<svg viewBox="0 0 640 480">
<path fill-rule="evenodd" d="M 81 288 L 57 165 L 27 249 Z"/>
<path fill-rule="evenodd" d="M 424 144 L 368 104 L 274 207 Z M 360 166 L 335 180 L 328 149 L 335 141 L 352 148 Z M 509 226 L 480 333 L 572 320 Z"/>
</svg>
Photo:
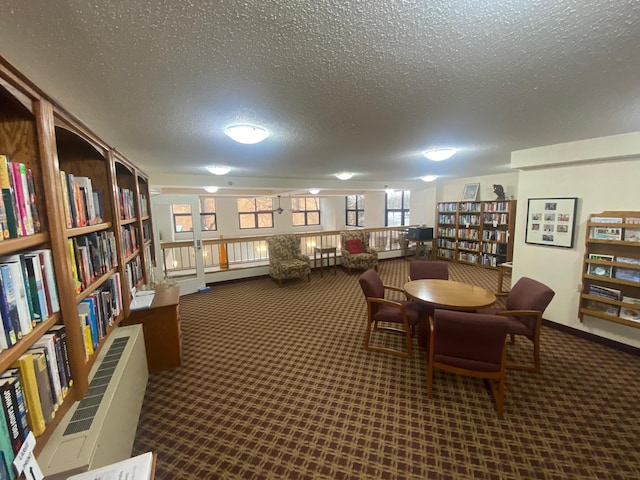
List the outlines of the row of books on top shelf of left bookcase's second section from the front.
<svg viewBox="0 0 640 480">
<path fill-rule="evenodd" d="M 94 190 L 89 177 L 60 170 L 67 228 L 97 225 L 104 220 L 102 192 Z"/>
</svg>

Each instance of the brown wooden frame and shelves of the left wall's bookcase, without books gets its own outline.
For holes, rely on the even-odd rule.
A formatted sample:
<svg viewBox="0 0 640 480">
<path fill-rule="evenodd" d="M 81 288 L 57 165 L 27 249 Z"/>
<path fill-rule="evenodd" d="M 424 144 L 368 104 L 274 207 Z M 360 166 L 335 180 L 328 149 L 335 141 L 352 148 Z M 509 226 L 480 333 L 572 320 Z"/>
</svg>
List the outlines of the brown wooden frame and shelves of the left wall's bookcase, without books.
<svg viewBox="0 0 640 480">
<path fill-rule="evenodd" d="M 89 372 L 97 354 L 113 329 L 128 315 L 131 286 L 127 281 L 128 265 L 139 264 L 136 285 L 149 281 L 154 249 L 148 179 L 2 57 L 0 155 L 6 155 L 10 161 L 22 163 L 30 170 L 33 201 L 40 213 L 39 231 L 0 241 L 0 256 L 50 250 L 59 299 L 59 311 L 38 320 L 33 330 L 15 345 L 0 352 L 0 374 L 52 327 L 64 325 L 73 377 L 73 386 L 69 388 L 55 417 L 37 438 L 38 454 L 73 403 L 87 392 Z M 78 201 L 82 205 L 91 203 L 95 207 L 91 211 L 94 214 L 98 212 L 97 215 L 91 215 L 87 208 L 82 221 L 74 222 L 73 218 L 69 218 L 70 201 L 73 203 L 69 186 L 75 185 L 68 183 L 69 174 L 78 182 L 79 179 L 85 182 L 81 184 L 82 188 L 77 187 L 74 192 L 81 197 Z M 120 217 L 117 195 L 120 186 L 133 191 L 131 208 L 134 213 L 126 219 Z M 79 212 L 76 214 L 80 215 Z M 123 229 L 129 230 L 130 236 L 141 242 L 133 252 L 125 252 L 127 245 L 122 235 Z M 97 250 L 90 249 L 90 243 L 96 238 L 100 239 L 104 248 L 100 252 L 110 253 L 103 257 L 95 256 Z M 141 247 L 149 253 L 141 254 Z M 89 254 L 92 257 L 83 257 L 90 258 L 90 263 L 78 263 L 81 252 L 85 255 L 93 252 Z M 82 281 L 79 281 L 74 272 L 86 265 L 92 268 L 83 270 Z M 118 276 L 121 282 L 115 281 Z M 107 287 L 110 288 L 107 292 L 110 296 L 107 297 L 105 293 L 103 298 L 114 298 L 116 293 L 121 296 L 120 313 L 112 315 L 109 323 L 103 325 L 95 349 L 92 348 L 93 352 L 88 354 L 78 308 L 85 299 L 97 292 L 104 292 Z M 114 290 L 116 287 L 117 292 Z"/>
</svg>

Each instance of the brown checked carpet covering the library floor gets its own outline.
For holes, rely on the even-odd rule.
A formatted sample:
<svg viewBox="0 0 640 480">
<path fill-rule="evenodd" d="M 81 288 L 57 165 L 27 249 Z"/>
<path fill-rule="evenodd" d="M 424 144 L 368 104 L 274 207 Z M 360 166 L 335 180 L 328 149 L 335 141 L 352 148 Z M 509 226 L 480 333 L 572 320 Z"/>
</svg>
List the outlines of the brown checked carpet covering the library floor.
<svg viewBox="0 0 640 480">
<path fill-rule="evenodd" d="M 402 286 L 408 262 L 379 270 Z M 507 373 L 499 419 L 481 380 L 437 371 L 428 398 L 422 348 L 362 348 L 357 274 L 213 285 L 181 312 L 183 367 L 150 375 L 133 452 L 157 453 L 158 480 L 640 478 L 630 354 L 544 327 L 542 371 Z"/>
</svg>

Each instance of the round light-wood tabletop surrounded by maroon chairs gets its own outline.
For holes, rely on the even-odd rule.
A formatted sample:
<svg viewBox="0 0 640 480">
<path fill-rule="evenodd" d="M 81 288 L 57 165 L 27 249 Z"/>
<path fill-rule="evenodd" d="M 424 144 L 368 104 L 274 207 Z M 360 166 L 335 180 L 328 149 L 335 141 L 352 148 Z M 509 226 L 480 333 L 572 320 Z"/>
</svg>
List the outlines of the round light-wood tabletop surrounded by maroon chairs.
<svg viewBox="0 0 640 480">
<path fill-rule="evenodd" d="M 452 280 L 412 280 L 405 283 L 404 291 L 412 300 L 463 312 L 490 307 L 496 301 L 489 290 Z"/>
</svg>

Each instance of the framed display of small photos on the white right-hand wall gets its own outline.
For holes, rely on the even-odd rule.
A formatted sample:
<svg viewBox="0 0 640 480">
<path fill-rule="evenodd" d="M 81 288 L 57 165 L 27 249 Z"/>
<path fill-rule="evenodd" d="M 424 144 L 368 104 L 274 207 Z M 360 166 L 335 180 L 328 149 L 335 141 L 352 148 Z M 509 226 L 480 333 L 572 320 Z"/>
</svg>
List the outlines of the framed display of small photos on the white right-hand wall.
<svg viewBox="0 0 640 480">
<path fill-rule="evenodd" d="M 577 207 L 577 197 L 530 198 L 525 242 L 573 248 Z"/>
</svg>

